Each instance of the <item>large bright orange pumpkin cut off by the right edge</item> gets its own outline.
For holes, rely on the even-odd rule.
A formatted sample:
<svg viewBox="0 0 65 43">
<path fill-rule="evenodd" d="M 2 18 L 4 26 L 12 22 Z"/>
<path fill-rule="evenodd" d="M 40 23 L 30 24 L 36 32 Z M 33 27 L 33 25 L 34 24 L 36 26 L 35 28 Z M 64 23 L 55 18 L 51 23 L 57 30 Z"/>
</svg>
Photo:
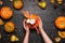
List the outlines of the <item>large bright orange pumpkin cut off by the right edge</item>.
<svg viewBox="0 0 65 43">
<path fill-rule="evenodd" d="M 58 29 L 65 29 L 65 17 L 64 16 L 57 17 L 55 20 L 55 25 Z"/>
</svg>

